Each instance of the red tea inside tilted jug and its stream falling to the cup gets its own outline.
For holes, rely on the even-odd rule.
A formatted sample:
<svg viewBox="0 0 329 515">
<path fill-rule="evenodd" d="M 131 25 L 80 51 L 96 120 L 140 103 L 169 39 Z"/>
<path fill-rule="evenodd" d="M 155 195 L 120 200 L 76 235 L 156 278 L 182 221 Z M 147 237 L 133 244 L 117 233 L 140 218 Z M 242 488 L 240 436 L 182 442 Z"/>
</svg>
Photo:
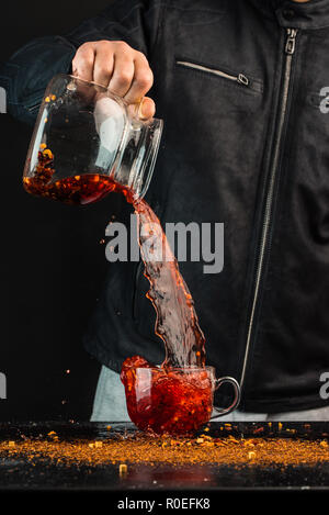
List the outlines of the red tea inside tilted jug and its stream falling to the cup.
<svg viewBox="0 0 329 515">
<path fill-rule="evenodd" d="M 151 301 L 157 321 L 156 334 L 166 348 L 163 367 L 205 366 L 205 339 L 189 288 L 182 278 L 177 259 L 169 246 L 159 219 L 144 199 L 115 182 L 110 176 L 84 173 L 56 180 L 54 155 L 48 148 L 38 152 L 34 175 L 24 177 L 29 193 L 58 200 L 69 204 L 95 202 L 115 191 L 132 203 L 138 220 L 138 243 L 145 265 L 145 277 L 150 289 L 147 298 Z M 161 248 L 161 257 L 152 255 L 152 244 Z"/>
</svg>

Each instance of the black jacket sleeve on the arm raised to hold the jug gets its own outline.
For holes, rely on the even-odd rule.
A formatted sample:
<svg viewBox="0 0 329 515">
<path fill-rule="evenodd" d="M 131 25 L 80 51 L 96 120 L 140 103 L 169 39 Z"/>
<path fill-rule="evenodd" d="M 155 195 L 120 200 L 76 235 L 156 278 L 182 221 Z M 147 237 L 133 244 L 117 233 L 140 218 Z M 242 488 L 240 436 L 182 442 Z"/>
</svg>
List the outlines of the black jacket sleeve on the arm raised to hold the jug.
<svg viewBox="0 0 329 515">
<path fill-rule="evenodd" d="M 125 41 L 149 57 L 156 42 L 161 0 L 116 0 L 99 15 L 63 36 L 33 40 L 0 67 L 0 87 L 7 92 L 7 111 L 33 124 L 48 81 L 71 72 L 77 48 L 90 41 Z"/>
</svg>

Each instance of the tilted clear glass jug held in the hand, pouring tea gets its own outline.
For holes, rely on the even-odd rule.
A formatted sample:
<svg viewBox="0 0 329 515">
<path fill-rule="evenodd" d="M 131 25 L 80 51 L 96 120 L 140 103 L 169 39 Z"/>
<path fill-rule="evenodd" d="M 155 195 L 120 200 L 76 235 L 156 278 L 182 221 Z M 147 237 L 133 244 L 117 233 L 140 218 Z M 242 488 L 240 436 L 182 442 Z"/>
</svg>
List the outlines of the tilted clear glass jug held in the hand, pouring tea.
<svg viewBox="0 0 329 515">
<path fill-rule="evenodd" d="M 139 104 L 140 105 L 140 104 Z M 88 204 L 111 191 L 143 198 L 163 123 L 94 82 L 55 76 L 46 88 L 24 168 L 29 193 Z"/>
</svg>

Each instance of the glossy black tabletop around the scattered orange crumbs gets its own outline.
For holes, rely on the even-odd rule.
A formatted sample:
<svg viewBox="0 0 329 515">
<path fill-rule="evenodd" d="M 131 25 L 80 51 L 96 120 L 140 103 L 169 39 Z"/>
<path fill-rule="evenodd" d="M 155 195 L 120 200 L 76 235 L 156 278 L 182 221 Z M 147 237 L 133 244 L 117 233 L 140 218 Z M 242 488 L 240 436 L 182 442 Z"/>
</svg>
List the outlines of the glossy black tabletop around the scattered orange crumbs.
<svg viewBox="0 0 329 515">
<path fill-rule="evenodd" d="M 110 423 L 111 424 L 111 423 Z M 112 423 L 0 423 L 0 440 L 20 440 L 25 437 L 45 437 L 56 430 L 60 439 L 109 439 L 118 433 L 134 434 L 133 424 Z M 212 436 L 327 438 L 327 423 L 232 423 L 231 427 L 212 423 Z M 218 464 L 141 464 L 129 463 L 120 477 L 118 464 L 60 466 L 26 462 L 23 458 L 0 458 L 0 491 L 139 491 L 139 490 L 326 490 L 329 489 L 329 463 L 295 467 L 248 467 L 236 469 Z"/>
</svg>

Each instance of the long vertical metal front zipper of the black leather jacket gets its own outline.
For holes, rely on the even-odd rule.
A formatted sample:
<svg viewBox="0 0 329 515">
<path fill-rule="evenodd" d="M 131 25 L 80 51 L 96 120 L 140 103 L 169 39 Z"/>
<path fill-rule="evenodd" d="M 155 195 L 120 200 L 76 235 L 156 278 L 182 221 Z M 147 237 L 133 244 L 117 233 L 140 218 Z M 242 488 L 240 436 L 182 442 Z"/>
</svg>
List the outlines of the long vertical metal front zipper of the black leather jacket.
<svg viewBox="0 0 329 515">
<path fill-rule="evenodd" d="M 284 67 L 284 76 L 283 76 L 281 107 L 280 107 L 279 122 L 277 122 L 277 128 L 276 128 L 276 134 L 275 134 L 275 144 L 274 144 L 274 149 L 273 149 L 273 159 L 272 159 L 272 166 L 271 166 L 271 172 L 270 172 L 270 183 L 269 183 L 269 189 L 268 189 L 268 194 L 266 194 L 266 200 L 265 200 L 265 212 L 263 216 L 262 234 L 261 234 L 259 256 L 258 256 L 258 261 L 257 261 L 253 298 L 252 298 L 251 313 L 250 313 L 249 324 L 248 324 L 248 334 L 247 334 L 243 366 L 242 366 L 242 372 L 240 377 L 241 389 L 243 387 L 245 378 L 246 378 L 248 355 L 250 350 L 250 342 L 251 342 L 251 335 L 252 335 L 252 329 L 253 329 L 253 324 L 254 324 L 254 314 L 256 314 L 256 307 L 257 307 L 257 303 L 259 299 L 259 290 L 260 290 L 260 283 L 262 279 L 263 265 L 264 265 L 264 255 L 266 250 L 266 244 L 269 239 L 269 229 L 270 229 L 271 219 L 272 219 L 274 187 L 275 187 L 275 179 L 276 179 L 276 173 L 277 173 L 277 165 L 279 165 L 279 159 L 280 159 L 280 149 L 281 149 L 282 135 L 283 135 L 283 128 L 284 128 L 284 123 L 285 123 L 285 115 L 286 115 L 286 110 L 287 110 L 287 100 L 288 100 L 291 75 L 292 75 L 292 63 L 293 63 L 293 56 L 296 49 L 296 35 L 297 35 L 296 29 L 287 29 L 287 36 L 286 36 L 285 48 L 284 48 L 285 67 Z"/>
</svg>

